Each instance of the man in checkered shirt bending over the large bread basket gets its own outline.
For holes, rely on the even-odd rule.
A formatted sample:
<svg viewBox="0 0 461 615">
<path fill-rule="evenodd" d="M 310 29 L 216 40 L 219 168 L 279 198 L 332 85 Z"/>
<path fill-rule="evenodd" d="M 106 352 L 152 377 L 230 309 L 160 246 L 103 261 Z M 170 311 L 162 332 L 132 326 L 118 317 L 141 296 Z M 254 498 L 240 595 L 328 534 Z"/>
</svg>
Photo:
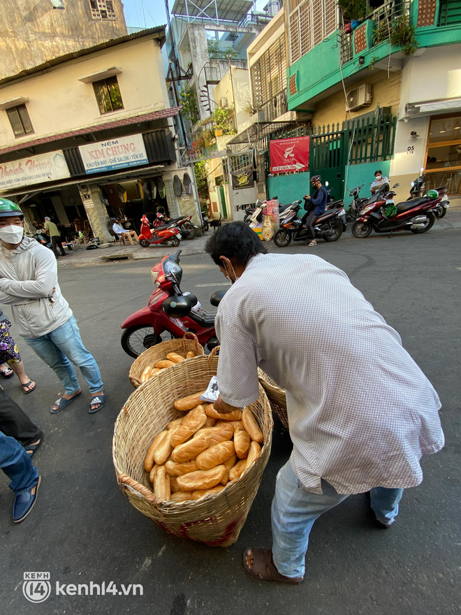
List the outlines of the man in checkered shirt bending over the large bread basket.
<svg viewBox="0 0 461 615">
<path fill-rule="evenodd" d="M 348 495 L 369 491 L 376 524 L 395 522 L 403 490 L 423 479 L 421 456 L 444 446 L 440 401 L 343 271 L 310 254 L 266 254 L 242 222 L 222 226 L 206 249 L 233 284 L 216 318 L 214 407 L 257 400 L 259 367 L 286 389 L 293 441 L 272 500 L 272 550 L 247 549 L 244 566 L 298 584 L 314 521 Z"/>
</svg>

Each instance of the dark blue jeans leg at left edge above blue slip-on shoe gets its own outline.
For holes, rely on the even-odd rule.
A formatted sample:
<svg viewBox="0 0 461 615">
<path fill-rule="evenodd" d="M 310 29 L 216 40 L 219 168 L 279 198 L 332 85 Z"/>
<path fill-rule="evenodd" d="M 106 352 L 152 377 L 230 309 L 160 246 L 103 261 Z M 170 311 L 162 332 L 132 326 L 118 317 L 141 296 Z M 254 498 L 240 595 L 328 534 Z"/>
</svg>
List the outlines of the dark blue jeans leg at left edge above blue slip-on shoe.
<svg viewBox="0 0 461 615">
<path fill-rule="evenodd" d="M 11 479 L 15 495 L 30 491 L 38 483 L 37 468 L 32 465 L 26 449 L 14 437 L 0 431 L 0 468 Z"/>
</svg>

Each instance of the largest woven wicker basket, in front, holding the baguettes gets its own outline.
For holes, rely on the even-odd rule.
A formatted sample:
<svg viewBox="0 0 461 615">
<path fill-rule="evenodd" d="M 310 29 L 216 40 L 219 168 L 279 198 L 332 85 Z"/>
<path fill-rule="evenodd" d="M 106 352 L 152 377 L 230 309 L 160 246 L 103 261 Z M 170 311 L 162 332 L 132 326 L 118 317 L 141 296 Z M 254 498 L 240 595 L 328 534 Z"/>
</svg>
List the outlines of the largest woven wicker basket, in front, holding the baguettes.
<svg viewBox="0 0 461 615">
<path fill-rule="evenodd" d="M 176 536 L 228 547 L 242 529 L 258 491 L 272 442 L 272 414 L 264 389 L 251 410 L 263 431 L 260 456 L 240 479 L 231 481 L 215 495 L 195 501 L 157 502 L 144 470 L 147 449 L 168 421 L 184 413 L 173 402 L 207 388 L 217 372 L 217 356 L 198 356 L 163 370 L 139 386 L 126 401 L 115 421 L 112 455 L 122 492 L 142 514 Z"/>
</svg>

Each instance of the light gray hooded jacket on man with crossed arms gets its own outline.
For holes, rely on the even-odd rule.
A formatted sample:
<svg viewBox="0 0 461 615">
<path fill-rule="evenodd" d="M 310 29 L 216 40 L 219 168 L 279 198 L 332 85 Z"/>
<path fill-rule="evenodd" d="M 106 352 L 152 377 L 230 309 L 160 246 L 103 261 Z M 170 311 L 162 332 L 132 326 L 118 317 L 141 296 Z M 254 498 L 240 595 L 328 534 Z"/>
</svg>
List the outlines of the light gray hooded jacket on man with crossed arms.
<svg viewBox="0 0 461 615">
<path fill-rule="evenodd" d="M 39 338 L 68 321 L 72 310 L 61 295 L 50 249 L 25 235 L 13 250 L 0 243 L 0 303 L 13 306 L 13 321 L 23 338 Z"/>
</svg>

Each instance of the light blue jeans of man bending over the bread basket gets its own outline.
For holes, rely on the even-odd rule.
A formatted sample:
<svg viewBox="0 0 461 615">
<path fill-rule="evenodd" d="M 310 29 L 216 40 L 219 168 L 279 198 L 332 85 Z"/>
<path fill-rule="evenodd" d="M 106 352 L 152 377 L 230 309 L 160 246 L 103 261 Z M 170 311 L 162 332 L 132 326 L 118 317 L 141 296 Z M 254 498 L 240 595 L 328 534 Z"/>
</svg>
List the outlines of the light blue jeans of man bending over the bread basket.
<svg viewBox="0 0 461 615">
<path fill-rule="evenodd" d="M 314 521 L 349 494 L 340 495 L 322 479 L 323 493 L 312 493 L 302 486 L 288 462 L 281 468 L 272 500 L 272 557 L 280 574 L 285 577 L 304 577 L 305 555 L 309 533 Z M 371 502 L 376 519 L 393 523 L 399 511 L 403 489 L 375 487 Z"/>
</svg>

